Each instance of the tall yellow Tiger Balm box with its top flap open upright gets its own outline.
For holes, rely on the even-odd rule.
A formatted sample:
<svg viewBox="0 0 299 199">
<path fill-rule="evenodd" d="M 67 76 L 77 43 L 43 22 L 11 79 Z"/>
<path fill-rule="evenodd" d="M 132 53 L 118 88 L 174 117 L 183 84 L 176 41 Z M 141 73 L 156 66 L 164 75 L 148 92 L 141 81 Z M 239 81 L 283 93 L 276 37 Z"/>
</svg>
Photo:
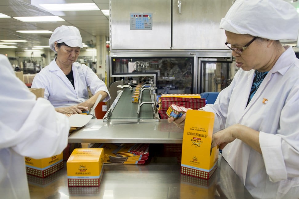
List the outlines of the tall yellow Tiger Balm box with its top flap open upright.
<svg viewBox="0 0 299 199">
<path fill-rule="evenodd" d="M 188 110 L 183 134 L 181 174 L 209 179 L 217 168 L 218 147 L 211 149 L 214 113 Z"/>
</svg>

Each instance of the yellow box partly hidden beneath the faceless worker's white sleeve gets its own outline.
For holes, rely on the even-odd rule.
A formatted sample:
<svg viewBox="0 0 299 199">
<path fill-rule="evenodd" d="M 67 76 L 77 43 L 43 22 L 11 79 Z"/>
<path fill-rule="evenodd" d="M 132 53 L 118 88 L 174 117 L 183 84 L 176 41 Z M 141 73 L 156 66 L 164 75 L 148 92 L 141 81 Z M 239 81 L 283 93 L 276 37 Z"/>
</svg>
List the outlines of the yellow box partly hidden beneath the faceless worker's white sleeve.
<svg viewBox="0 0 299 199">
<path fill-rule="evenodd" d="M 63 168 L 63 154 L 42 159 L 25 157 L 25 164 L 27 174 L 45 178 Z"/>
</svg>

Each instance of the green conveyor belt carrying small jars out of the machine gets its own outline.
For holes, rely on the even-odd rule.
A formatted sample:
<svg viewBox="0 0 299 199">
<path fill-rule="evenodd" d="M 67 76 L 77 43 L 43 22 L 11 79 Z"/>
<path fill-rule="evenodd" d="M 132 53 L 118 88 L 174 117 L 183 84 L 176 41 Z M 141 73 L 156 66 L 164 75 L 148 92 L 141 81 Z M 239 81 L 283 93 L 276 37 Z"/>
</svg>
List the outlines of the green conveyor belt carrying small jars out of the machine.
<svg viewBox="0 0 299 199">
<path fill-rule="evenodd" d="M 138 103 L 132 103 L 134 90 L 129 88 L 122 93 L 118 103 L 114 107 L 109 119 L 154 119 L 152 104 L 143 104 L 140 107 L 140 112 L 137 114 Z M 150 91 L 142 92 L 141 102 L 150 102 Z"/>
</svg>

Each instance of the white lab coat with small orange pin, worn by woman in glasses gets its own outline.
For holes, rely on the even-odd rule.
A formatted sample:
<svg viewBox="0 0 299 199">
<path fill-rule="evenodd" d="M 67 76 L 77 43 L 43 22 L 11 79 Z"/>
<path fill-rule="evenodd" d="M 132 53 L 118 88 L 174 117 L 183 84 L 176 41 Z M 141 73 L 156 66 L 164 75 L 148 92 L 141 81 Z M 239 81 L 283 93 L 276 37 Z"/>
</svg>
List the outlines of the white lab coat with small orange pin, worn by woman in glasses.
<svg viewBox="0 0 299 199">
<path fill-rule="evenodd" d="M 214 132 L 237 123 L 260 132 L 262 155 L 239 139 L 222 155 L 254 197 L 276 198 L 299 189 L 299 60 L 287 48 L 246 107 L 253 77 L 254 70 L 240 69 L 202 109 L 215 113 Z"/>
</svg>

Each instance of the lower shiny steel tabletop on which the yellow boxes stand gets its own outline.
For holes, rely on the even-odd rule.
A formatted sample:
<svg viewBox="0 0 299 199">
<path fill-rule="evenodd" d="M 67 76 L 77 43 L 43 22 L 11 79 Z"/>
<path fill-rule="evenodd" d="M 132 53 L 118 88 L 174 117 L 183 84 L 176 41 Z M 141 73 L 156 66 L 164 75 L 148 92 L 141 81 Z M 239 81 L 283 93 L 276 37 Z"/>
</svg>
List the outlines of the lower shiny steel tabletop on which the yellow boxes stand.
<svg viewBox="0 0 299 199">
<path fill-rule="evenodd" d="M 223 158 L 209 180 L 180 174 L 180 165 L 169 160 L 153 157 L 146 165 L 105 164 L 99 187 L 68 187 L 64 162 L 62 170 L 46 178 L 27 175 L 30 196 L 32 199 L 253 198 Z"/>
</svg>

